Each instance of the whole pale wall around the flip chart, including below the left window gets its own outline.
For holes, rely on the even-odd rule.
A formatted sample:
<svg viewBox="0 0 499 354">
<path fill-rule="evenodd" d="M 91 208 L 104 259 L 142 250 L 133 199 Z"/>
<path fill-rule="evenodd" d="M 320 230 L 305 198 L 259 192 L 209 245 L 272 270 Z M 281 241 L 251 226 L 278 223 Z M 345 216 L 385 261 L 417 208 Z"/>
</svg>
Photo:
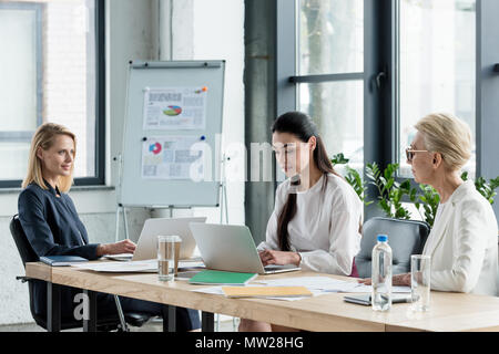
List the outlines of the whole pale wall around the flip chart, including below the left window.
<svg viewBox="0 0 499 354">
<path fill-rule="evenodd" d="M 116 166 L 112 157 L 121 152 L 123 134 L 126 67 L 129 60 L 225 59 L 225 105 L 223 138 L 225 143 L 244 143 L 244 1 L 243 0 L 172 0 L 173 25 L 161 23 L 161 13 L 169 12 L 169 0 L 106 1 L 106 185 L 115 186 Z M 160 12 L 160 3 L 162 12 Z M 165 3 L 167 7 L 165 7 Z M 170 33 L 173 28 L 173 45 Z M 162 29 L 161 32 L 159 29 Z M 162 48 L 160 45 L 162 43 Z M 165 48 L 167 46 L 167 48 Z M 244 183 L 228 185 L 231 223 L 244 223 Z M 32 322 L 28 287 L 16 281 L 24 274 L 19 253 L 9 231 L 17 212 L 18 191 L 0 191 L 0 325 Z M 77 209 L 92 242 L 112 242 L 115 226 L 115 191 L 71 191 Z M 161 212 L 153 212 L 160 215 Z M 174 215 L 207 216 L 220 221 L 216 208 L 175 211 Z M 136 240 L 150 210 L 134 209 L 129 214 L 131 239 Z M 120 223 L 121 225 L 121 223 Z M 120 226 L 120 228 L 122 228 Z"/>
</svg>

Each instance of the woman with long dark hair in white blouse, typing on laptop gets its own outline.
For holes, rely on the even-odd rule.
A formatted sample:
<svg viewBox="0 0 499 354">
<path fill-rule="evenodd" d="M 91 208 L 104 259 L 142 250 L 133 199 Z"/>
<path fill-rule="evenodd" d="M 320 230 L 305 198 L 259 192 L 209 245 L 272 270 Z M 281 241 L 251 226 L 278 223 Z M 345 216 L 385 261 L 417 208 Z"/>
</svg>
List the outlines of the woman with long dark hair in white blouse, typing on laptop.
<svg viewBox="0 0 499 354">
<path fill-rule="evenodd" d="M 360 249 L 360 199 L 333 168 L 309 116 L 286 113 L 274 122 L 272 133 L 276 160 L 287 179 L 277 187 L 266 241 L 258 246 L 263 264 L 357 275 L 354 257 Z M 249 320 L 240 325 L 240 331 L 271 330 L 282 329 Z"/>
</svg>

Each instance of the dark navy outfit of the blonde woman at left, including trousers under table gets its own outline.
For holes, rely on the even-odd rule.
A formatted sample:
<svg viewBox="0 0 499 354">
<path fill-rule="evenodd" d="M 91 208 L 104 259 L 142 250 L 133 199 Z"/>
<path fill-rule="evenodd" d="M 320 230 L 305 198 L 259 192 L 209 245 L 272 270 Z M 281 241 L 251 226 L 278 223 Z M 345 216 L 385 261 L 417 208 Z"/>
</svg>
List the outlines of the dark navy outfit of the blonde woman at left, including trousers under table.
<svg viewBox="0 0 499 354">
<path fill-rule="evenodd" d="M 89 244 L 85 227 L 81 222 L 74 204 L 67 194 L 59 192 L 47 181 L 48 190 L 37 184 L 29 185 L 19 195 L 18 210 L 22 229 L 38 257 L 42 256 L 80 256 L 89 260 L 98 259 L 99 244 Z M 32 280 L 34 312 L 47 315 L 47 283 Z M 74 321 L 74 296 L 81 290 L 61 288 L 61 319 Z M 132 312 L 150 312 L 162 314 L 162 305 L 121 298 L 123 310 Z M 114 298 L 98 293 L 99 313 L 115 313 Z M 179 308 L 176 321 L 189 331 L 200 327 L 197 311 Z M 64 320 L 69 319 L 69 320 Z M 179 327 L 177 327 L 179 329 Z"/>
</svg>

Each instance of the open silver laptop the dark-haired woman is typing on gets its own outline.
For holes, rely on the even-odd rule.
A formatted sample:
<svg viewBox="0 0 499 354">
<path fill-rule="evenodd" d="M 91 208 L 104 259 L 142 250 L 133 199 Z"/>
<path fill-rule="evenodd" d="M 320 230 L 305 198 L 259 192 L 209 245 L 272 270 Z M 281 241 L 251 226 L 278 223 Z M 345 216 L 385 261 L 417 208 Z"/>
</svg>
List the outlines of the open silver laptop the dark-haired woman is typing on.
<svg viewBox="0 0 499 354">
<path fill-rule="evenodd" d="M 208 269 L 258 274 L 301 269 L 294 264 L 264 267 L 246 226 L 191 222 L 190 227 Z"/>
</svg>

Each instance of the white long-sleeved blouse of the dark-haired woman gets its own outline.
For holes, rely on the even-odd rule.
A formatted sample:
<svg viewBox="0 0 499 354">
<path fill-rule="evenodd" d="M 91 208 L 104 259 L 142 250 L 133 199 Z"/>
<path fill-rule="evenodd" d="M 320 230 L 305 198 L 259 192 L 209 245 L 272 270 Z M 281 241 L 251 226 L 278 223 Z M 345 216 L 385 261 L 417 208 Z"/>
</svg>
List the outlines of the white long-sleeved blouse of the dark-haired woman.
<svg viewBox="0 0 499 354">
<path fill-rule="evenodd" d="M 266 241 L 258 244 L 259 251 L 279 250 L 277 218 L 287 201 L 289 187 L 289 179 L 277 187 Z M 354 188 L 338 176 L 324 175 L 312 188 L 297 194 L 296 207 L 287 231 L 292 250 L 302 257 L 302 269 L 350 275 L 354 257 L 360 250 L 364 209 Z"/>
</svg>

